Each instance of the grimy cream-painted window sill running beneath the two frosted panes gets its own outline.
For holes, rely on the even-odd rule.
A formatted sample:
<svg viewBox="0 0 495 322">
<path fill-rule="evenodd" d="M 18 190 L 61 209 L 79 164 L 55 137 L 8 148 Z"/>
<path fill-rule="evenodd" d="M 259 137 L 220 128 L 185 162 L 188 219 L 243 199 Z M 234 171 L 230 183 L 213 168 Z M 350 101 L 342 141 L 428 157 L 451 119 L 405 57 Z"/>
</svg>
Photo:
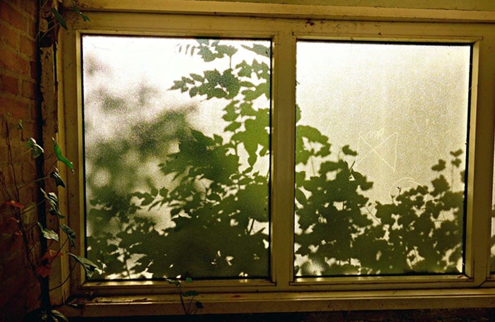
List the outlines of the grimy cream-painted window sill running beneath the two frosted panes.
<svg viewBox="0 0 495 322">
<path fill-rule="evenodd" d="M 204 307 L 198 314 L 487 308 L 495 306 L 495 289 L 205 293 L 195 300 Z M 184 314 L 177 294 L 77 298 L 61 311 L 68 317 Z"/>
</svg>

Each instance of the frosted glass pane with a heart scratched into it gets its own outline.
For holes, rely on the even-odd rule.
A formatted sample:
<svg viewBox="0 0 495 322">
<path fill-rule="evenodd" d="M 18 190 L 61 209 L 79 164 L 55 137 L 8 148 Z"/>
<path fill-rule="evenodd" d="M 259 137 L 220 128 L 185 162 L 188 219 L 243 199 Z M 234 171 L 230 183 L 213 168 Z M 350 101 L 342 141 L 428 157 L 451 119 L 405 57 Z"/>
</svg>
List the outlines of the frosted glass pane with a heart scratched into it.
<svg viewBox="0 0 495 322">
<path fill-rule="evenodd" d="M 296 276 L 463 271 L 470 54 L 297 43 Z"/>
</svg>

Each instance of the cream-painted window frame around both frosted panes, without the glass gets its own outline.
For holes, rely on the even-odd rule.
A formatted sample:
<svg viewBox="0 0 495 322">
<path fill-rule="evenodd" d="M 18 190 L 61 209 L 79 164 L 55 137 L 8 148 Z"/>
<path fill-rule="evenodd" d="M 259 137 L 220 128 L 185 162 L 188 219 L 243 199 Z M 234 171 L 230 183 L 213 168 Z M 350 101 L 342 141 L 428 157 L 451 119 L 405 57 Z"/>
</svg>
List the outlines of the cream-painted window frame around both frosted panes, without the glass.
<svg viewBox="0 0 495 322">
<path fill-rule="evenodd" d="M 72 252 L 85 253 L 81 36 L 264 38 L 272 40 L 272 278 L 195 281 L 191 287 L 200 293 L 205 306 L 202 313 L 493 306 L 490 227 L 495 12 L 188 0 L 106 0 L 99 8 L 92 8 L 91 2 L 79 1 L 91 21 L 71 21 L 59 42 L 63 80 L 59 126 L 65 142 L 70 142 L 66 153 L 76 170 L 66 178 L 65 201 L 69 225 L 81 237 Z M 293 275 L 296 42 L 307 39 L 472 44 L 465 273 L 324 278 Z M 67 269 L 60 272 L 61 278 L 67 274 Z M 166 281 L 86 281 L 79 268 L 72 271 L 70 280 L 70 294 L 84 297 L 81 301 L 86 305 L 82 311 L 66 308 L 71 316 L 181 314 L 175 288 Z M 88 294 L 92 295 L 89 299 Z M 143 298 L 146 300 L 141 301 Z M 131 305 L 134 311 L 123 312 L 123 305 Z"/>
</svg>

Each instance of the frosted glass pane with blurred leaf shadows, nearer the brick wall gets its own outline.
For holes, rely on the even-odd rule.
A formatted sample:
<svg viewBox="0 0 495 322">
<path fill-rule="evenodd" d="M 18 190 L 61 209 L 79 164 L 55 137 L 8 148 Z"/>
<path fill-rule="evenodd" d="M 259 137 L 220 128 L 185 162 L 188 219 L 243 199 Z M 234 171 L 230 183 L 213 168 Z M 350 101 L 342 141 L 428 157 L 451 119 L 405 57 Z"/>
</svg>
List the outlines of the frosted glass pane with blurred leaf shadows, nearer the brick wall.
<svg viewBox="0 0 495 322">
<path fill-rule="evenodd" d="M 93 279 L 268 276 L 270 47 L 83 37 Z"/>
</svg>

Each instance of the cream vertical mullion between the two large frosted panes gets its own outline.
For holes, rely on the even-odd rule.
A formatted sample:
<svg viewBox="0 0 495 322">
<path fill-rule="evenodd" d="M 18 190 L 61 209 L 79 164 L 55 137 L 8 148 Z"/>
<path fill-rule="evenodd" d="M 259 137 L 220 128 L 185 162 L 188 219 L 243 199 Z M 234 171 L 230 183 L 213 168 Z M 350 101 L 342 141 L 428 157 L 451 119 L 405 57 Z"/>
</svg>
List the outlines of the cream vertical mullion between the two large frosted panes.
<svg viewBox="0 0 495 322">
<path fill-rule="evenodd" d="M 278 289 L 293 280 L 296 42 L 280 32 L 273 42 L 272 276 Z"/>
</svg>

